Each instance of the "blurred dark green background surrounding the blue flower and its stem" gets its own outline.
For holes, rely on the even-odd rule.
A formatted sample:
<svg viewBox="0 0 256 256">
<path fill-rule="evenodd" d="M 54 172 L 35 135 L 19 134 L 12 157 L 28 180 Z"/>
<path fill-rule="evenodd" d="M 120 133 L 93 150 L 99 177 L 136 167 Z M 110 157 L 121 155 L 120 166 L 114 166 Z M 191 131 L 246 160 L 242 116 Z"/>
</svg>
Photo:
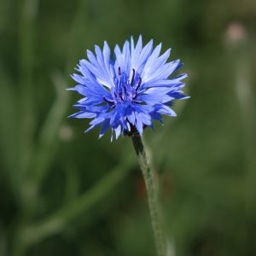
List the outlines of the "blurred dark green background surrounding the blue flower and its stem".
<svg viewBox="0 0 256 256">
<path fill-rule="evenodd" d="M 144 135 L 172 255 L 256 255 L 255 1 L 1 0 L 1 256 L 155 255 L 131 139 L 67 119 L 85 50 L 139 34 L 189 74 Z"/>
</svg>

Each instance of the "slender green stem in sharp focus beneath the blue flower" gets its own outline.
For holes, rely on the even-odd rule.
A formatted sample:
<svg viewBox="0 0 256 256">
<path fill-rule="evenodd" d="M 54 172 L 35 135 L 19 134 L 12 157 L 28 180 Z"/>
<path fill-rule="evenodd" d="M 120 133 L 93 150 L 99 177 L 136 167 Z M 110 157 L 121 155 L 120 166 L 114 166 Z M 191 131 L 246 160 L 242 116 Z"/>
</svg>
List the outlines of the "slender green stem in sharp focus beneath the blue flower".
<svg viewBox="0 0 256 256">
<path fill-rule="evenodd" d="M 139 165 L 143 171 L 143 178 L 148 192 L 148 205 L 151 215 L 151 222 L 154 231 L 154 241 L 158 256 L 166 256 L 166 237 L 164 236 L 160 221 L 160 207 L 153 172 L 150 170 L 147 154 L 143 142 L 138 134 L 131 136 L 133 146 L 137 153 Z"/>
</svg>

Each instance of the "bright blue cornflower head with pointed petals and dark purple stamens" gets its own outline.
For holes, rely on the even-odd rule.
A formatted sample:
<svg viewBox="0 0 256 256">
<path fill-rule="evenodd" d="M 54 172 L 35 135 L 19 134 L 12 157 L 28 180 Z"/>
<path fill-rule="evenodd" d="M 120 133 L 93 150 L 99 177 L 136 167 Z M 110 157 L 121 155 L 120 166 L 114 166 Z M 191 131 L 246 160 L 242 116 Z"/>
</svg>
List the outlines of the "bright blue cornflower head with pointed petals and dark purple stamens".
<svg viewBox="0 0 256 256">
<path fill-rule="evenodd" d="M 113 61 L 107 42 L 103 49 L 95 46 L 96 54 L 87 50 L 88 61 L 79 61 L 80 74 L 72 76 L 78 85 L 69 89 L 84 97 L 73 105 L 79 113 L 70 117 L 92 119 L 85 132 L 101 126 L 100 137 L 110 128 L 118 138 L 143 135 L 145 127 L 153 128 L 153 119 L 163 121 L 162 114 L 176 116 L 170 106 L 172 100 L 188 98 L 181 90 L 187 75 L 169 78 L 182 65 L 179 60 L 166 62 L 171 49 L 163 55 L 160 49 L 161 44 L 153 49 L 153 40 L 143 47 L 140 36 L 136 45 L 133 38 L 123 49 L 116 45 Z"/>
</svg>

